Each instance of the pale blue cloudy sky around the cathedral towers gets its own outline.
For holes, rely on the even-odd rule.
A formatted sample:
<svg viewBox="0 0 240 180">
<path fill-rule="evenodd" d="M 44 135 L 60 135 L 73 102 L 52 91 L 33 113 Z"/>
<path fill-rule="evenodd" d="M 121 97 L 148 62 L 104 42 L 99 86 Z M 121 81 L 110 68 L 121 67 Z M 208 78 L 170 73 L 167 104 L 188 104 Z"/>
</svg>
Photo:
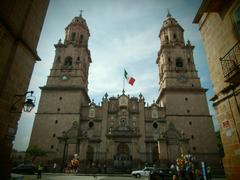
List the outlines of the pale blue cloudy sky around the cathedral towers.
<svg viewBox="0 0 240 180">
<path fill-rule="evenodd" d="M 64 39 L 65 27 L 83 10 L 90 30 L 89 49 L 92 63 L 89 68 L 89 96 L 101 103 L 107 92 L 117 96 L 123 89 L 123 69 L 136 79 L 134 86 L 125 84 L 126 94 L 143 94 L 149 104 L 159 95 L 159 72 L 156 64 L 160 49 L 158 37 L 167 9 L 184 28 L 185 41 L 190 40 L 194 60 L 203 88 L 209 89 L 207 100 L 215 129 L 215 112 L 209 99 L 213 96 L 206 55 L 197 24 L 193 18 L 201 0 L 51 0 L 40 35 L 37 52 L 41 61 L 35 64 L 29 90 L 37 102 L 31 113 L 22 113 L 14 148 L 26 150 L 41 91 L 55 56 L 54 44 Z"/>
</svg>

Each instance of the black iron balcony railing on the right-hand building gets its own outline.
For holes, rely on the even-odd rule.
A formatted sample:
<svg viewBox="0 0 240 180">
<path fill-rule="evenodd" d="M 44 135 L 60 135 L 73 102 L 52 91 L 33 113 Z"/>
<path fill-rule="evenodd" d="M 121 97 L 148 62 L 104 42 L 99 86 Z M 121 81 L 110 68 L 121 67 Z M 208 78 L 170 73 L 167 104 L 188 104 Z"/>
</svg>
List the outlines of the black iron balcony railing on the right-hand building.
<svg viewBox="0 0 240 180">
<path fill-rule="evenodd" d="M 226 82 L 232 82 L 238 78 L 240 70 L 240 42 L 237 42 L 223 58 L 220 58 L 223 75 Z"/>
</svg>

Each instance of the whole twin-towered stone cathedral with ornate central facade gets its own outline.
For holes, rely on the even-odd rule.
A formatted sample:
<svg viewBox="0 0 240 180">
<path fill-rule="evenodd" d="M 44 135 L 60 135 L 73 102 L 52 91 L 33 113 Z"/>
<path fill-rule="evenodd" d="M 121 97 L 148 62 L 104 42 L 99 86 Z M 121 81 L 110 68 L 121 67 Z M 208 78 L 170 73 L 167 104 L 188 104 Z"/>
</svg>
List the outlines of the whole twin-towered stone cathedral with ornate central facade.
<svg viewBox="0 0 240 180">
<path fill-rule="evenodd" d="M 144 96 L 109 97 L 97 105 L 88 95 L 89 29 L 82 15 L 65 28 L 55 44 L 56 54 L 35 116 L 30 146 L 48 152 L 43 161 L 60 165 L 74 154 L 80 170 L 93 165 L 108 171 L 141 168 L 146 164 L 175 163 L 191 153 L 214 165 L 219 161 L 206 89 L 194 64 L 194 46 L 168 12 L 160 29 L 156 64 L 159 96 L 147 105 Z"/>
</svg>

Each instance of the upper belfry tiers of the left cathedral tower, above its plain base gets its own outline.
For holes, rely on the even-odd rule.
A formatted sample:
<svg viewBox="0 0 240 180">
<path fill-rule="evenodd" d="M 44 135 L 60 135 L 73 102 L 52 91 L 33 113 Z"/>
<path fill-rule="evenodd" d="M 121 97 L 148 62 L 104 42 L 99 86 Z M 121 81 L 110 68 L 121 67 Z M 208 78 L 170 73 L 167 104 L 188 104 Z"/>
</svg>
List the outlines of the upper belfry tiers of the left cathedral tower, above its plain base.
<svg viewBox="0 0 240 180">
<path fill-rule="evenodd" d="M 65 39 L 55 44 L 56 54 L 47 86 L 78 87 L 88 92 L 88 70 L 92 62 L 88 49 L 90 33 L 82 15 L 65 28 Z"/>
</svg>

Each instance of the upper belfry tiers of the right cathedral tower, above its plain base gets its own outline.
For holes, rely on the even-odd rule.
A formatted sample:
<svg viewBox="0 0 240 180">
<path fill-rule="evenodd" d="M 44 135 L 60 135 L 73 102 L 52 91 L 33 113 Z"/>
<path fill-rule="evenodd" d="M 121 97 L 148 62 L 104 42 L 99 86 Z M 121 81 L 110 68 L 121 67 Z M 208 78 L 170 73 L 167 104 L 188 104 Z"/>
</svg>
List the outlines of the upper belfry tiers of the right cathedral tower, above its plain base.
<svg viewBox="0 0 240 180">
<path fill-rule="evenodd" d="M 159 68 L 160 91 L 164 88 L 200 88 L 190 41 L 185 44 L 184 29 L 168 12 L 160 30 L 161 49 L 156 63 Z"/>
</svg>

